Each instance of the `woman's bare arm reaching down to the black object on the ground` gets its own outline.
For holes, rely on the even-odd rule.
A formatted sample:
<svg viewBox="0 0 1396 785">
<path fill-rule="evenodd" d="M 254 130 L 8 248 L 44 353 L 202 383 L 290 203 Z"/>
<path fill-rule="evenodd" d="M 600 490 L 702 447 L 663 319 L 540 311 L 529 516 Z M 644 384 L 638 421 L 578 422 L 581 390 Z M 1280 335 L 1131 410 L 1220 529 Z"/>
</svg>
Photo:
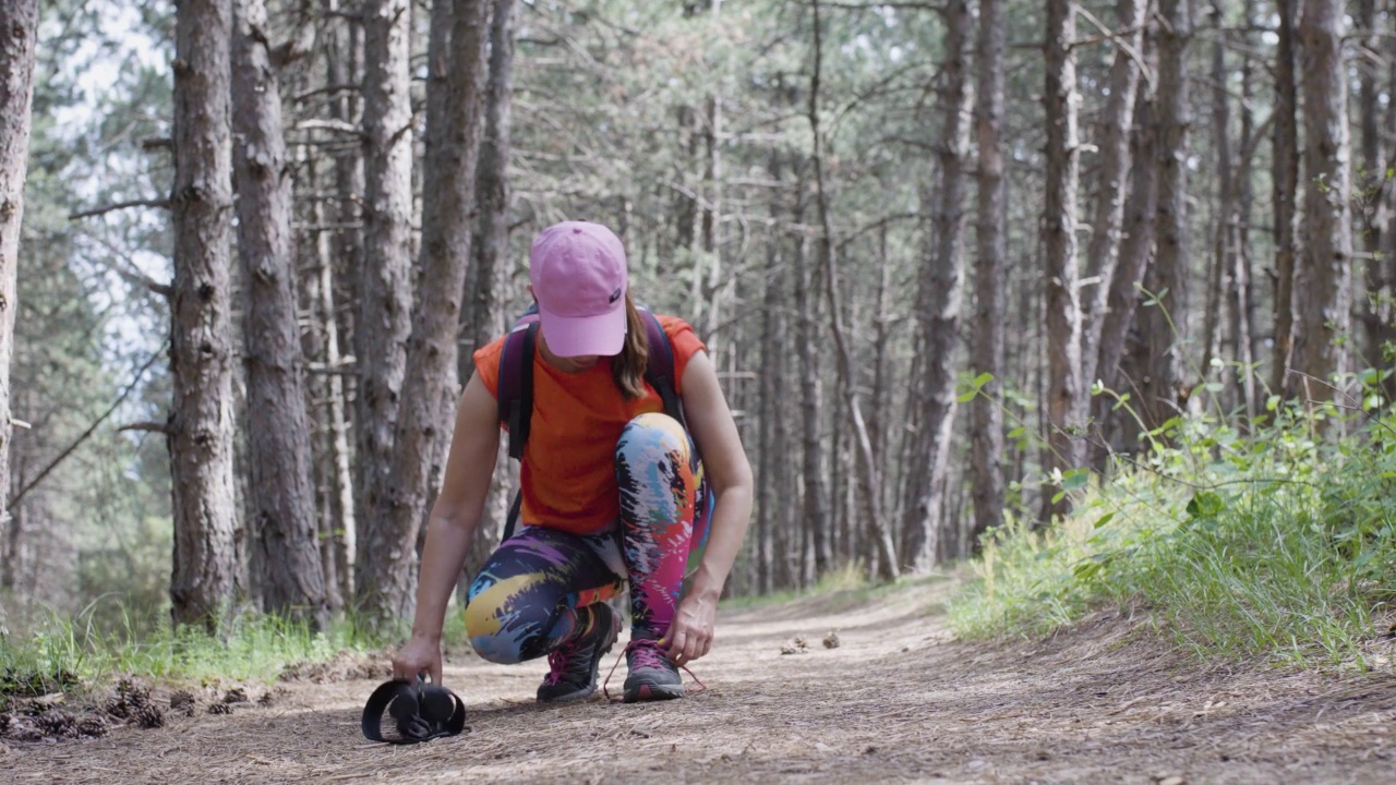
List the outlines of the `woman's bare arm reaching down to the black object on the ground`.
<svg viewBox="0 0 1396 785">
<path fill-rule="evenodd" d="M 412 640 L 392 661 L 394 677 L 413 679 L 426 670 L 433 684 L 441 683 L 441 626 L 490 492 L 500 447 L 497 411 L 494 397 L 480 377 L 472 376 L 456 405 L 455 433 L 441 478 L 441 493 L 427 521 Z"/>
</svg>

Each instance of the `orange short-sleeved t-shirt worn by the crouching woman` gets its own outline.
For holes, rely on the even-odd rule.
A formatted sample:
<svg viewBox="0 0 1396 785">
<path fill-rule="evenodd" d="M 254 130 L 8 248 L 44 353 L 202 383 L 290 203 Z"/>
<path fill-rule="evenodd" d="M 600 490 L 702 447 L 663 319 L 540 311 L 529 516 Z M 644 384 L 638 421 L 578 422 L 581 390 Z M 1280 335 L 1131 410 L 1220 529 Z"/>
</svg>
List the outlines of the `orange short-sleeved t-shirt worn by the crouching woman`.
<svg viewBox="0 0 1396 785">
<path fill-rule="evenodd" d="M 674 348 L 674 392 L 683 395 L 684 369 L 705 346 L 687 321 L 658 318 Z M 503 352 L 504 338 L 475 352 L 475 372 L 496 399 Z M 631 419 L 664 411 L 659 392 L 648 384 L 645 390 L 642 398 L 625 401 L 611 379 L 610 358 L 581 373 L 564 373 L 535 346 L 533 422 L 519 475 L 524 524 L 591 534 L 620 518 L 616 441 Z"/>
</svg>

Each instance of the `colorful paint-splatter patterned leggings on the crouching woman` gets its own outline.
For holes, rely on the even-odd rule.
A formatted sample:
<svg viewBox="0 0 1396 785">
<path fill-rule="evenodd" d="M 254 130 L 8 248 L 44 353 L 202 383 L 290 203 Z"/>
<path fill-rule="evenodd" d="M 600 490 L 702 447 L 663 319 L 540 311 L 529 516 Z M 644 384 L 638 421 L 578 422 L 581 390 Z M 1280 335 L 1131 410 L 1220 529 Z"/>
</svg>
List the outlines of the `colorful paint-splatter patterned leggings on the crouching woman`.
<svg viewBox="0 0 1396 785">
<path fill-rule="evenodd" d="M 491 662 L 543 656 L 596 620 L 592 605 L 630 581 L 632 634 L 660 637 L 712 507 L 688 434 L 662 413 L 625 425 L 616 446 L 620 521 L 592 535 L 521 527 L 470 584 L 465 627 Z M 697 548 L 695 548 L 697 546 Z"/>
</svg>

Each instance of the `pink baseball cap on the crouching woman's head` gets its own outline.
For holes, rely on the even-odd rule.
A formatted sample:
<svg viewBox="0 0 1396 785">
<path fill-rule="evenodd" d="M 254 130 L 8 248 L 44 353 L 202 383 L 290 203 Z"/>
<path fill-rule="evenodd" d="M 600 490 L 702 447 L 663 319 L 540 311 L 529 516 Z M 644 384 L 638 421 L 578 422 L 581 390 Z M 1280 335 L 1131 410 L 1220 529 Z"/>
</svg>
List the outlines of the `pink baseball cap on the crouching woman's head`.
<svg viewBox="0 0 1396 785">
<path fill-rule="evenodd" d="M 554 223 L 529 250 L 529 282 L 547 348 L 560 358 L 613 356 L 625 345 L 625 249 L 589 221 Z"/>
</svg>

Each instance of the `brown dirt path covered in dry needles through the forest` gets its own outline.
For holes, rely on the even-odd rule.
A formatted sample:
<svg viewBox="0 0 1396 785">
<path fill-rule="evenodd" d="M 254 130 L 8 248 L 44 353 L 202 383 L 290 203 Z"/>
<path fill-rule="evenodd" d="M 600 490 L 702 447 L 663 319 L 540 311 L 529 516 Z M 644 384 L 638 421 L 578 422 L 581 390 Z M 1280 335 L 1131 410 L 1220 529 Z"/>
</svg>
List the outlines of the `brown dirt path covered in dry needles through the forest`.
<svg viewBox="0 0 1396 785">
<path fill-rule="evenodd" d="M 539 708 L 542 666 L 470 658 L 447 669 L 469 708 L 454 739 L 366 743 L 359 710 L 376 682 L 296 683 L 228 717 L 11 744 L 0 781 L 1396 781 L 1390 675 L 1201 669 L 1110 617 L 1050 641 L 960 644 L 942 591 L 725 613 L 695 668 L 708 689 L 684 701 Z M 829 630 L 838 648 L 821 645 Z M 808 651 L 782 655 L 796 636 Z"/>
</svg>

